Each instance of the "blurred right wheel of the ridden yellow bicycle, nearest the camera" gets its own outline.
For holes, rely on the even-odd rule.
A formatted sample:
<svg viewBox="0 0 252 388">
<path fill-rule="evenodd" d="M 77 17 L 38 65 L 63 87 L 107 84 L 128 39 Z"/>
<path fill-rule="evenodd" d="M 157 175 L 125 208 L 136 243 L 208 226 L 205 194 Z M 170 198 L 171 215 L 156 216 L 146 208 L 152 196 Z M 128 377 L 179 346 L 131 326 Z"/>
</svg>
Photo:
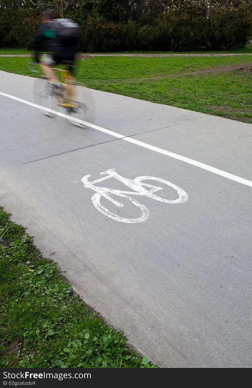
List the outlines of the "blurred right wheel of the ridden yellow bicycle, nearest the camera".
<svg viewBox="0 0 252 388">
<path fill-rule="evenodd" d="M 72 83 L 71 86 L 74 88 L 74 92 L 71 93 L 70 99 L 67 99 L 67 92 L 65 93 L 65 99 L 68 104 L 64 108 L 64 113 L 69 116 L 67 120 L 71 124 L 84 128 L 88 126 L 88 123 L 93 123 L 95 118 L 92 90 L 77 82 Z M 65 86 L 65 90 L 67 90 L 67 86 Z"/>
</svg>

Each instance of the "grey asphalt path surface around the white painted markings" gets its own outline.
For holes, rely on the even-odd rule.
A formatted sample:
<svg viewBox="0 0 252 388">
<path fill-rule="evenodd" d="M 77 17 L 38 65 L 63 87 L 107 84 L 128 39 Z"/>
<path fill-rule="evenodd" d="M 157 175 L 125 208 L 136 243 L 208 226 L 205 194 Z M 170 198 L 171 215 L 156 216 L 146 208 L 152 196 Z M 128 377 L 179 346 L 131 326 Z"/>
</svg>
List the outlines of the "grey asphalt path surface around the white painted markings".
<svg viewBox="0 0 252 388">
<path fill-rule="evenodd" d="M 0 92 L 34 102 L 29 77 Z M 252 125 L 93 91 L 97 126 L 252 180 Z M 0 95 L 0 204 L 129 343 L 163 368 L 250 368 L 252 187 Z M 146 196 L 149 217 L 100 213 L 81 178 L 115 169 L 179 186 L 185 203 Z M 157 192 L 175 199 L 176 191 Z M 130 190 L 114 178 L 101 182 Z M 132 196 L 133 197 L 133 196 Z M 113 196 L 117 199 L 116 196 Z M 120 217 L 140 208 L 125 198 Z"/>
</svg>

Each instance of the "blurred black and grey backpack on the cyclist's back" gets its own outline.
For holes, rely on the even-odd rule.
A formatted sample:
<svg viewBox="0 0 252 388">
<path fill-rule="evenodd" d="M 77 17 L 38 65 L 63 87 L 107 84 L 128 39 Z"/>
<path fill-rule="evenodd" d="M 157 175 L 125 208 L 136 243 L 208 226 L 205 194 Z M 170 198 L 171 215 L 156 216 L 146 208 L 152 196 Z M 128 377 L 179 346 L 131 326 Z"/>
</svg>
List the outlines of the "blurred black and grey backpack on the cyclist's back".
<svg viewBox="0 0 252 388">
<path fill-rule="evenodd" d="M 54 20 L 56 37 L 64 46 L 72 46 L 78 43 L 81 36 L 79 24 L 71 19 Z"/>
</svg>

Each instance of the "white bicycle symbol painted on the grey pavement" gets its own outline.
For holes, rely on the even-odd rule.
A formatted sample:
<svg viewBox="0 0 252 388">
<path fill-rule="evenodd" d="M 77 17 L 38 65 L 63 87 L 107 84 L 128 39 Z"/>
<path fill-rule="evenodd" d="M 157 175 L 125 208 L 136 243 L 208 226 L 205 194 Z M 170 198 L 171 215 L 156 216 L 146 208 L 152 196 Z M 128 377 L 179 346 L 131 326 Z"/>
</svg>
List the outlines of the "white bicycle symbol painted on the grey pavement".
<svg viewBox="0 0 252 388">
<path fill-rule="evenodd" d="M 95 194 L 93 194 L 93 196 L 91 198 L 95 208 L 97 210 L 99 210 L 101 213 L 103 213 L 105 216 L 110 217 L 113 220 L 116 220 L 119 222 L 129 222 L 129 223 L 145 222 L 145 220 L 147 220 L 147 218 L 148 218 L 149 210 L 147 209 L 147 207 L 145 205 L 139 203 L 138 201 L 136 201 L 136 199 L 131 198 L 131 195 L 132 196 L 136 196 L 136 195 L 137 196 L 146 196 L 146 197 L 155 199 L 156 201 L 161 201 L 161 202 L 165 202 L 165 203 L 184 203 L 188 200 L 188 195 L 186 194 L 186 192 L 184 190 L 182 190 L 180 187 L 174 185 L 173 183 L 168 182 L 167 180 L 164 180 L 161 178 L 149 177 L 148 175 L 143 175 L 142 177 L 136 177 L 135 179 L 124 178 L 121 175 L 117 174 L 117 172 L 114 170 L 114 168 L 107 170 L 107 171 L 104 171 L 104 172 L 101 172 L 100 174 L 101 175 L 108 174 L 108 175 L 106 177 L 102 177 L 100 179 L 93 180 L 92 182 L 90 182 L 88 180 L 88 178 L 91 177 L 91 175 L 85 175 L 85 177 L 83 177 L 81 179 L 81 182 L 83 182 L 84 186 L 87 189 L 91 189 L 91 190 L 96 191 Z M 109 189 L 107 187 L 95 186 L 95 184 L 102 182 L 102 181 L 109 179 L 109 178 L 116 178 L 117 180 L 122 182 L 124 185 L 128 186 L 129 189 L 134 190 L 134 191 L 122 191 L 122 190 Z M 167 186 L 173 187 L 173 189 L 175 189 L 176 192 L 178 193 L 178 198 L 177 199 L 164 199 L 164 198 L 161 198 L 161 197 L 155 195 L 154 193 L 159 191 L 159 190 L 162 190 L 163 187 L 153 186 L 153 185 L 142 182 L 143 180 L 147 180 L 147 179 L 148 180 L 155 180 L 155 181 L 160 182 L 162 184 L 165 184 Z M 113 204 L 115 204 L 119 208 L 121 208 L 124 205 L 120 202 L 117 202 L 112 197 L 110 197 L 109 194 L 110 195 L 111 194 L 117 195 L 119 197 L 123 197 L 123 198 L 128 199 L 131 203 L 133 203 L 133 205 L 140 208 L 140 210 L 142 211 L 142 216 L 139 218 L 123 218 L 115 213 L 112 213 L 112 211 L 108 210 L 107 208 L 102 206 L 102 204 L 100 203 L 100 200 L 102 197 L 108 199 L 110 202 L 112 202 Z"/>
</svg>

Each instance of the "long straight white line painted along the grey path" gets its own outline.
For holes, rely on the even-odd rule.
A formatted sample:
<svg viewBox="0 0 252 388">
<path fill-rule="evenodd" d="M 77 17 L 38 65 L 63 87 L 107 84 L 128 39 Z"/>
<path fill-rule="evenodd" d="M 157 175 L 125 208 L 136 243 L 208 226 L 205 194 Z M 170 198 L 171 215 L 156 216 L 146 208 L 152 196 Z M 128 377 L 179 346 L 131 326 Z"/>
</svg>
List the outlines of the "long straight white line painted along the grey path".
<svg viewBox="0 0 252 388">
<path fill-rule="evenodd" d="M 9 97 L 9 98 L 11 98 L 13 100 L 16 100 L 16 101 L 19 101 L 19 102 L 23 102 L 24 104 L 33 106 L 35 108 L 40 108 L 40 109 L 43 108 L 43 109 L 45 109 L 46 111 L 48 111 L 50 113 L 56 114 L 57 116 L 61 116 L 61 117 L 64 117 L 64 118 L 71 118 L 71 116 L 68 116 L 67 114 L 60 113 L 60 112 L 54 111 L 52 109 L 44 108 L 44 107 L 42 107 L 40 105 L 33 104 L 32 102 L 29 102 L 29 101 L 26 101 L 26 100 L 22 100 L 22 99 L 20 99 L 18 97 L 14 97 L 14 96 L 12 96 L 10 94 L 6 94 L 6 93 L 0 92 L 0 95 L 3 95 L 5 97 Z M 230 173 L 228 173 L 226 171 L 219 170 L 219 168 L 215 168 L 215 167 L 212 167 L 212 166 L 209 166 L 209 165 L 205 165 L 205 163 L 198 162 L 197 160 L 186 158 L 185 156 L 182 156 L 182 155 L 179 155 L 179 154 L 174 154 L 174 152 L 166 151 L 165 149 L 155 147 L 154 145 L 140 142 L 139 140 L 132 139 L 131 137 L 126 137 L 125 135 L 121 135 L 120 133 L 113 132 L 113 131 L 110 131 L 108 129 L 102 128 L 101 126 L 94 125 L 94 124 L 91 124 L 91 123 L 88 123 L 86 121 L 79 120 L 79 119 L 76 119 L 76 121 L 78 123 L 81 123 L 81 124 L 84 124 L 86 126 L 89 126 L 90 128 L 96 129 L 96 130 L 98 130 L 100 132 L 104 132 L 104 133 L 107 133 L 108 135 L 114 136 L 117 139 L 125 140 L 126 142 L 130 142 L 130 143 L 139 145 L 140 147 L 144 147 L 144 148 L 150 149 L 151 151 L 159 152 L 160 154 L 163 154 L 163 155 L 166 155 L 166 156 L 170 156 L 171 158 L 181 160 L 182 162 L 185 162 L 185 163 L 189 163 L 190 165 L 203 168 L 204 170 L 207 170 L 207 171 L 210 171 L 210 172 L 212 172 L 214 174 L 220 175 L 221 177 L 228 178 L 228 179 L 231 179 L 231 180 L 233 180 L 235 182 L 242 183 L 243 185 L 247 185 L 247 186 L 252 187 L 252 181 L 251 180 L 247 180 L 247 179 L 238 177 L 237 175 L 230 174 Z"/>
</svg>

